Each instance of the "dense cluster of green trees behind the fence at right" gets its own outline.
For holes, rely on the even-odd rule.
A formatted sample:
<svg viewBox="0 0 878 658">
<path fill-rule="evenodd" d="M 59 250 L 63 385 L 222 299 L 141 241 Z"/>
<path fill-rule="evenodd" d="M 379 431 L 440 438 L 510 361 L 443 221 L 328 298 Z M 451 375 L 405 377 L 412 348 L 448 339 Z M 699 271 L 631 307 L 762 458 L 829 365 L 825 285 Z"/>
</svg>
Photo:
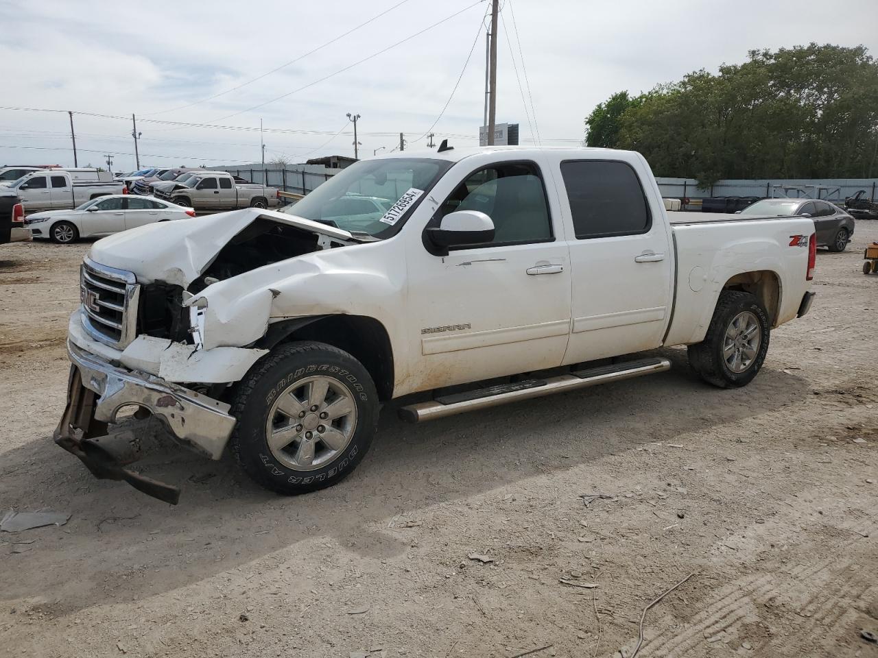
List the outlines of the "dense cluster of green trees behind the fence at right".
<svg viewBox="0 0 878 658">
<path fill-rule="evenodd" d="M 626 103 L 627 100 L 627 103 Z M 631 148 L 657 175 L 862 178 L 878 175 L 878 62 L 863 46 L 751 51 L 587 118 L 588 145 Z M 603 140 L 603 141 L 599 141 Z"/>
</svg>

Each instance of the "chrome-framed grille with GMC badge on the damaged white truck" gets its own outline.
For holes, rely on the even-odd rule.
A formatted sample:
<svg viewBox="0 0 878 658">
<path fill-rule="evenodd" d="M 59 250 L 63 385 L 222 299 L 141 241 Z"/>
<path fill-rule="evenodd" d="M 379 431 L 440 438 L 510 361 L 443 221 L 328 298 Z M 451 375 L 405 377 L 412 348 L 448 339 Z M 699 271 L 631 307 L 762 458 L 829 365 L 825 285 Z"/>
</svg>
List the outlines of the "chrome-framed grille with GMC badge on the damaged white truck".
<svg viewBox="0 0 878 658">
<path fill-rule="evenodd" d="M 124 349 L 134 340 L 140 286 L 131 272 L 83 261 L 79 274 L 83 325 L 106 345 Z"/>
</svg>

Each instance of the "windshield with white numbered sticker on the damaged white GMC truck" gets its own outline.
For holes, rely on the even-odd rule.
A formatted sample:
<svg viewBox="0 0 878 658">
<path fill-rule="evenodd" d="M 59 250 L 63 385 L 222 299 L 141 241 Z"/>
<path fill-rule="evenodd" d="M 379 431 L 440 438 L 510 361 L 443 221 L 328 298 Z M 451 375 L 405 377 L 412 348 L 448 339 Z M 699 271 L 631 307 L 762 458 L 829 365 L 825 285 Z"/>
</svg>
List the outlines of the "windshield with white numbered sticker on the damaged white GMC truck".
<svg viewBox="0 0 878 658">
<path fill-rule="evenodd" d="M 428 158 L 356 162 L 281 212 L 351 233 L 389 238 L 399 219 L 451 164 Z M 398 201 L 398 213 L 385 218 Z"/>
</svg>

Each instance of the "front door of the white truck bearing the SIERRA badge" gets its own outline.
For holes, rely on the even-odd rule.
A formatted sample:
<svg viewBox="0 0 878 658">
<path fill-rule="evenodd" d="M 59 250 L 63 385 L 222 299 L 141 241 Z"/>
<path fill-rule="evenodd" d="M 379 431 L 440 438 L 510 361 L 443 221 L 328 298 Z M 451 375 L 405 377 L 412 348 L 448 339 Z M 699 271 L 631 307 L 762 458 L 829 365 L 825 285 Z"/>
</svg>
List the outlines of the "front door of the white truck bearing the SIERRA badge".
<svg viewBox="0 0 878 658">
<path fill-rule="evenodd" d="M 443 176 L 422 207 L 432 212 L 427 226 L 457 210 L 485 212 L 494 238 L 443 256 L 430 253 L 424 229 L 409 232 L 406 312 L 415 367 L 407 388 L 560 365 L 570 332 L 570 261 L 540 163 L 515 160 L 514 152 L 472 156 Z"/>
</svg>

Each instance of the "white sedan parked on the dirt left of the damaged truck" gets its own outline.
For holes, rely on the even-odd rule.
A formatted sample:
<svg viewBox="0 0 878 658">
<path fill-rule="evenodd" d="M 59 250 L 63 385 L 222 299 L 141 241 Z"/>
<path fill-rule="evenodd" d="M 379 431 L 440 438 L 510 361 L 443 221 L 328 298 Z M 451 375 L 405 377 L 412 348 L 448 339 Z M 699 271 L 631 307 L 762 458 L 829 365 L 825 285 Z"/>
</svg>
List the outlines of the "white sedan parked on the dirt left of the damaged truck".
<svg viewBox="0 0 878 658">
<path fill-rule="evenodd" d="M 25 225 L 34 238 L 68 243 L 187 217 L 195 217 L 195 211 L 155 197 L 114 194 L 91 199 L 72 211 L 35 212 L 27 216 Z"/>
</svg>

